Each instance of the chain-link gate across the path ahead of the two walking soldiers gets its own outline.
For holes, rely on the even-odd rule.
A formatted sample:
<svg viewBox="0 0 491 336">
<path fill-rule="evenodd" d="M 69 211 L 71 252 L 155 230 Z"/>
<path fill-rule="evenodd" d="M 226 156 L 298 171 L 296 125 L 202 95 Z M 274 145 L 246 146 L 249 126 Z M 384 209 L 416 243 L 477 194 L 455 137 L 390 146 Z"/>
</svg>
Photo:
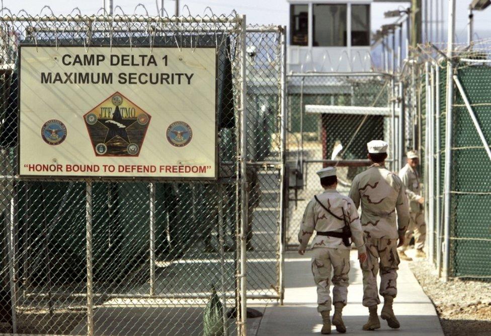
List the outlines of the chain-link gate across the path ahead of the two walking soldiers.
<svg viewBox="0 0 491 336">
<path fill-rule="evenodd" d="M 297 245 L 303 210 L 322 189 L 315 172 L 338 166 L 338 189 L 369 165 L 367 142 L 395 139 L 391 77 L 384 74 L 293 74 L 288 76 L 289 209 L 287 243 Z M 394 153 L 389 151 L 388 160 Z"/>
</svg>

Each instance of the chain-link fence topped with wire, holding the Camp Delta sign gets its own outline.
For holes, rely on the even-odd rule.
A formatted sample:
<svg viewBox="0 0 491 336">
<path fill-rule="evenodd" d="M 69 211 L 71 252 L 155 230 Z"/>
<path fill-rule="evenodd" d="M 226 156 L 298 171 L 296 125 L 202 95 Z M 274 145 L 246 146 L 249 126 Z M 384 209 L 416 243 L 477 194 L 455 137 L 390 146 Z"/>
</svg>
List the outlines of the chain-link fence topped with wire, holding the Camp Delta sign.
<svg viewBox="0 0 491 336">
<path fill-rule="evenodd" d="M 243 334 L 281 297 L 284 29 L 244 20 L 0 18 L 0 332 Z M 20 45 L 215 48 L 218 179 L 20 178 Z"/>
</svg>

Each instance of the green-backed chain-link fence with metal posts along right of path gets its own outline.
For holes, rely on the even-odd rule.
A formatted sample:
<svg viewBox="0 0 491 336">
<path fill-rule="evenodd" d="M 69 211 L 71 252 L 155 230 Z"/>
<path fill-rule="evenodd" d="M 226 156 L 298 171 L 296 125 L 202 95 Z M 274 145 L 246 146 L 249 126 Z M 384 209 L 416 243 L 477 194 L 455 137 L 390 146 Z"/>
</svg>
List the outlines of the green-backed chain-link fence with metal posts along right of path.
<svg viewBox="0 0 491 336">
<path fill-rule="evenodd" d="M 491 192 L 486 182 L 491 160 L 491 72 L 489 43 L 484 42 L 456 46 L 450 78 L 448 61 L 440 55 L 418 69 L 424 106 L 428 252 L 444 278 L 491 278 L 487 221 Z M 421 50 L 435 57 L 433 47 Z M 447 94 L 452 99 L 449 105 Z"/>
</svg>

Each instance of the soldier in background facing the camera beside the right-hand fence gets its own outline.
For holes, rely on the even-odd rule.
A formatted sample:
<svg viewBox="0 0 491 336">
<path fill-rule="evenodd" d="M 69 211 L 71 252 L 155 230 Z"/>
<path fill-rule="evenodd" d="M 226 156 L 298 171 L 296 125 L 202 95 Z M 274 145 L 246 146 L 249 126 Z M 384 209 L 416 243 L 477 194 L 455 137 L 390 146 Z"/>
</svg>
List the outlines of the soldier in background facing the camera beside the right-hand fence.
<svg viewBox="0 0 491 336">
<path fill-rule="evenodd" d="M 426 239 L 426 223 L 423 204 L 425 198 L 420 195 L 420 179 L 418 174 L 419 157 L 416 151 L 407 152 L 407 164 L 399 171 L 399 177 L 404 183 L 406 195 L 409 199 L 409 227 L 404 238 L 404 245 L 399 249 L 399 257 L 404 260 L 408 258 L 404 251 L 407 250 L 413 233 L 415 234 L 416 257 L 425 258 L 423 252 Z"/>
</svg>

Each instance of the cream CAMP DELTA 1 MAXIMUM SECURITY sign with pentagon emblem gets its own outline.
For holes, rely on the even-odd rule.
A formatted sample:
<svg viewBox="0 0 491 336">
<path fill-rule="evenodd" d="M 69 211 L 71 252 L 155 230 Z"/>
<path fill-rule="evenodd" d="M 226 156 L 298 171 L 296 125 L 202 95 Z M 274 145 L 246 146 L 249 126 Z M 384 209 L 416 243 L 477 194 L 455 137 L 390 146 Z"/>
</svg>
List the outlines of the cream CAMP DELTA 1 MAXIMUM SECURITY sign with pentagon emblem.
<svg viewBox="0 0 491 336">
<path fill-rule="evenodd" d="M 216 178 L 215 48 L 20 48 L 21 176 Z"/>
</svg>

